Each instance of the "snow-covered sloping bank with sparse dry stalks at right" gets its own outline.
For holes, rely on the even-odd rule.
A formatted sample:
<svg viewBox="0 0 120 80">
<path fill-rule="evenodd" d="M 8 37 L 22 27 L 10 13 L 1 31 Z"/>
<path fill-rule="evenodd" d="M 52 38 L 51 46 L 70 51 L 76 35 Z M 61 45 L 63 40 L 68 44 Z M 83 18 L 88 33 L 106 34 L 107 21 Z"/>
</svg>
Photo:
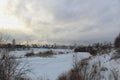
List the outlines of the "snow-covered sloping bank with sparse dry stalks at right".
<svg viewBox="0 0 120 80">
<path fill-rule="evenodd" d="M 98 76 L 101 76 L 100 80 L 120 80 L 120 53 L 117 53 L 116 50 L 107 54 L 92 56 L 88 63 L 90 71 L 93 65 L 97 65 L 98 74 L 100 73 Z"/>
</svg>

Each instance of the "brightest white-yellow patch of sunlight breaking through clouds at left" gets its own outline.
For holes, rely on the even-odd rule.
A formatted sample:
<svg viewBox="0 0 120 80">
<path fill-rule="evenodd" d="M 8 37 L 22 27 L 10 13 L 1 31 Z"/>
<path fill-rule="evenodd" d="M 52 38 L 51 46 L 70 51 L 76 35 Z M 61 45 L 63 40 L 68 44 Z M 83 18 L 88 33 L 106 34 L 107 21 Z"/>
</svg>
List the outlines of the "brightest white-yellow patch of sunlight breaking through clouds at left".
<svg viewBox="0 0 120 80">
<path fill-rule="evenodd" d="M 5 13 L 6 0 L 0 0 L 0 28 L 1 29 L 22 29 L 23 25 L 14 16 Z"/>
</svg>

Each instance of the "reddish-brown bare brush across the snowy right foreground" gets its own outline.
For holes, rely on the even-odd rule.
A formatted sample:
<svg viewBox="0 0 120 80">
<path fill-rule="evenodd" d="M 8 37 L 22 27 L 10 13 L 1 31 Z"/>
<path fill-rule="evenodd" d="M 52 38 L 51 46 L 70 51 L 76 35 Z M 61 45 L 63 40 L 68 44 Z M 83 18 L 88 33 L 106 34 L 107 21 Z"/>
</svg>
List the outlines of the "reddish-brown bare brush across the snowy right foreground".
<svg viewBox="0 0 120 80">
<path fill-rule="evenodd" d="M 109 69 L 101 64 L 100 60 L 91 63 L 92 58 L 81 61 L 74 58 L 73 68 L 66 74 L 62 74 L 57 80 L 119 80 L 117 69 Z M 107 73 L 107 74 L 106 74 Z"/>
</svg>

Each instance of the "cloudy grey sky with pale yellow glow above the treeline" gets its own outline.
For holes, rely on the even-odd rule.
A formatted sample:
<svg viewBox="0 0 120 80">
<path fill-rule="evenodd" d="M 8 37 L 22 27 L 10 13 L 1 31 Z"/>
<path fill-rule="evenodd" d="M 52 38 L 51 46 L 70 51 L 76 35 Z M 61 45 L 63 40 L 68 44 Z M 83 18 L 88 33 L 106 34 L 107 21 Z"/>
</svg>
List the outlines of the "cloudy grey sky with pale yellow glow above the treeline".
<svg viewBox="0 0 120 80">
<path fill-rule="evenodd" d="M 120 1 L 0 0 L 0 32 L 18 42 L 112 41 L 120 32 Z"/>
</svg>

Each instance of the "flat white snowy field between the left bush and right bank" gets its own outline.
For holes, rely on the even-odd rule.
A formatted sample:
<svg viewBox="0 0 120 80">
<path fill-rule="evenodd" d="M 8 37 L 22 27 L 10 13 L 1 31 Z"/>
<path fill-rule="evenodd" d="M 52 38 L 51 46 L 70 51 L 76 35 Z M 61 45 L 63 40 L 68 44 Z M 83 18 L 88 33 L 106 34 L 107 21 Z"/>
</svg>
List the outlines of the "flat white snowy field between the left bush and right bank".
<svg viewBox="0 0 120 80">
<path fill-rule="evenodd" d="M 33 49 L 35 53 L 48 51 L 49 49 Z M 56 80 L 56 78 L 63 72 L 67 72 L 72 68 L 73 64 L 73 50 L 69 49 L 52 49 L 53 52 L 59 53 L 64 52 L 64 54 L 53 55 L 53 57 L 25 57 L 26 51 L 12 51 L 11 55 L 16 57 L 22 57 L 21 60 L 24 64 L 28 64 L 31 72 L 27 75 L 32 78 L 32 80 L 37 80 L 38 78 L 49 78 L 50 80 Z M 90 56 L 89 53 L 77 53 L 78 58 L 84 59 Z"/>
</svg>

